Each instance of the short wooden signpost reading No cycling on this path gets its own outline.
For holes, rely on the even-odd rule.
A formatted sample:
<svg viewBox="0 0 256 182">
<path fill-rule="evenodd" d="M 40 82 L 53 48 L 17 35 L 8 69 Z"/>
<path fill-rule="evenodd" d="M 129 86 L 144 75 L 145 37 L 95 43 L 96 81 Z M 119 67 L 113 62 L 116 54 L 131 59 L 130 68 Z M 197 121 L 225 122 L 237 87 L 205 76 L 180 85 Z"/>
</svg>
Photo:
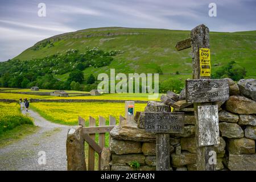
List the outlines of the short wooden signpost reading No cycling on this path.
<svg viewBox="0 0 256 182">
<path fill-rule="evenodd" d="M 145 113 L 145 131 L 156 133 L 156 171 L 170 171 L 170 133 L 183 133 L 183 121 L 184 113 Z"/>
</svg>

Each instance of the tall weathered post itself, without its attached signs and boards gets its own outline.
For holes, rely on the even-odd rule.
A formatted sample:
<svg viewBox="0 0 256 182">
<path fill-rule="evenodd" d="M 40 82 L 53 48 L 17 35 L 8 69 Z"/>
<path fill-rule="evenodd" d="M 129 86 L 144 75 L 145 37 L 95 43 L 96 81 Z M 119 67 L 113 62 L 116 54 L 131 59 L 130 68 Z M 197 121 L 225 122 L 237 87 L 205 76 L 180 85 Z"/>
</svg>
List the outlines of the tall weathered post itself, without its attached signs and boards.
<svg viewBox="0 0 256 182">
<path fill-rule="evenodd" d="M 210 48 L 209 42 L 209 28 L 204 24 L 201 24 L 191 31 L 191 45 L 192 45 L 192 68 L 193 68 L 193 79 L 210 79 L 210 77 L 200 76 L 200 56 L 199 49 L 200 48 Z M 197 171 L 214 171 L 215 166 L 213 164 L 209 164 L 209 151 L 214 151 L 214 146 L 199 146 L 199 119 L 198 119 L 198 109 L 197 107 L 200 105 L 211 105 L 211 103 L 195 103 L 195 117 L 196 117 L 196 167 Z"/>
</svg>

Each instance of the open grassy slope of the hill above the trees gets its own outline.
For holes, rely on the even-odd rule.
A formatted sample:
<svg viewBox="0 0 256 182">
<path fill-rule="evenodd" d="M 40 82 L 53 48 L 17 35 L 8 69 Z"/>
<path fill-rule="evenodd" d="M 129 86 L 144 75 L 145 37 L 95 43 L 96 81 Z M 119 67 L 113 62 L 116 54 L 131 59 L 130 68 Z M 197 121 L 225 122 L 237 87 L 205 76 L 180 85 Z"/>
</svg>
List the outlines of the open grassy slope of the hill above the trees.
<svg viewBox="0 0 256 182">
<path fill-rule="evenodd" d="M 110 35 L 109 35 L 110 34 Z M 160 75 L 160 81 L 166 78 L 191 77 L 191 53 L 190 49 L 176 51 L 175 44 L 188 38 L 190 31 L 147 29 L 147 28 L 119 28 L 105 27 L 92 28 L 57 35 L 54 39 L 54 47 L 44 47 L 39 51 L 28 48 L 15 59 L 27 60 L 33 57 L 44 57 L 53 53 L 64 53 L 67 49 L 79 49 L 85 47 L 99 47 L 105 51 L 119 49 L 123 54 L 114 57 L 114 61 L 107 67 L 87 68 L 84 73 L 88 76 L 93 73 L 110 72 L 115 68 L 119 73 L 155 73 L 156 65 L 160 65 L 164 75 Z M 89 37 L 88 37 L 89 36 Z M 256 31 L 247 32 L 210 32 L 211 62 L 213 64 L 226 64 L 231 60 L 237 61 L 247 70 L 247 77 L 256 78 L 255 54 Z M 216 67 L 212 67 L 213 71 Z M 181 75 L 174 75 L 179 71 Z M 65 75 L 57 75 L 57 78 L 65 80 Z"/>
</svg>

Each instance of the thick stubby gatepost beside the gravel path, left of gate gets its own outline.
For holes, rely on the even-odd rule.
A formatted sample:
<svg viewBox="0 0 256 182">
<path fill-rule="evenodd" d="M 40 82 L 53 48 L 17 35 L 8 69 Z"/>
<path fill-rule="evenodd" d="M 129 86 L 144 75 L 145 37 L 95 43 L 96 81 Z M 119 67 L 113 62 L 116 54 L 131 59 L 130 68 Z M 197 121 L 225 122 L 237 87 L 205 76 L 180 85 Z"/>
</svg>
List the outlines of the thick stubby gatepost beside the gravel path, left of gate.
<svg viewBox="0 0 256 182">
<path fill-rule="evenodd" d="M 86 171 L 82 126 L 68 130 L 66 147 L 68 171 Z"/>
</svg>

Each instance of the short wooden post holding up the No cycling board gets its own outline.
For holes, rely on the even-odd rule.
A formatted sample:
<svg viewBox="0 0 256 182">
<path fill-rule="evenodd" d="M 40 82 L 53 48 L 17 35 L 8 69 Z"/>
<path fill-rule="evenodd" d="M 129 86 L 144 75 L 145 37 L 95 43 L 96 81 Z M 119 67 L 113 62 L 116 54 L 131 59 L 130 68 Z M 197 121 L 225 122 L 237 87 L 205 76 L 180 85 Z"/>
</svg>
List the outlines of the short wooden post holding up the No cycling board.
<svg viewBox="0 0 256 182">
<path fill-rule="evenodd" d="M 170 171 L 170 134 L 156 134 L 156 171 Z"/>
</svg>

